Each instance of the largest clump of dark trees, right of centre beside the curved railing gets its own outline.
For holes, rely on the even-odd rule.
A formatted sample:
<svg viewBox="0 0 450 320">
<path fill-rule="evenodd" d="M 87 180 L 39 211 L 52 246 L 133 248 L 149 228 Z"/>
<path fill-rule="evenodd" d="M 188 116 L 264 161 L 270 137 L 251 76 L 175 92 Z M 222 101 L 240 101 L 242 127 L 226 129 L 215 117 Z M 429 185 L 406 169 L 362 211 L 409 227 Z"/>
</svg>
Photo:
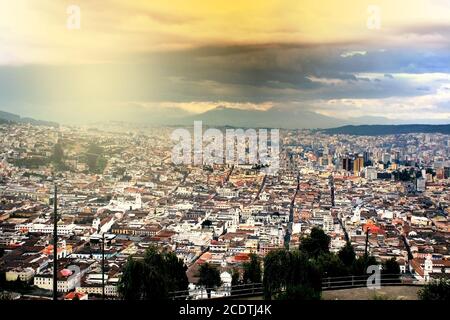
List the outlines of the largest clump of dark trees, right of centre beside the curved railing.
<svg viewBox="0 0 450 320">
<path fill-rule="evenodd" d="M 320 299 L 323 278 L 367 275 L 367 268 L 378 264 L 373 256 L 356 258 L 350 242 L 337 254 L 329 251 L 329 244 L 330 238 L 313 228 L 298 250 L 268 253 L 264 258 L 265 298 Z M 389 272 L 395 273 L 395 260 L 386 263 Z"/>
</svg>

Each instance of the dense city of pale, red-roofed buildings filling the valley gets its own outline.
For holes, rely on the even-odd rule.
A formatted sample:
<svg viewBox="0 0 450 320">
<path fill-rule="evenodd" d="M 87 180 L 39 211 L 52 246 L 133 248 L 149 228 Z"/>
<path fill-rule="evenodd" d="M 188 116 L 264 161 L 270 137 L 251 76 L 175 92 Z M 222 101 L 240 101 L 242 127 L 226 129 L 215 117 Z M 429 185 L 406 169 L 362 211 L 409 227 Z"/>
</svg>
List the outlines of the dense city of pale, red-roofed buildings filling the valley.
<svg viewBox="0 0 450 320">
<path fill-rule="evenodd" d="M 171 127 L 0 125 L 1 285 L 11 298 L 119 299 L 130 257 L 156 247 L 186 266 L 187 299 L 204 299 L 199 268 L 232 294 L 252 257 L 301 245 L 397 262 L 402 281 L 450 275 L 450 136 L 280 130 L 280 169 L 258 163 L 175 165 Z M 262 261 L 262 260 L 261 260 Z M 1 291 L 1 290 L 0 290 Z"/>
</svg>

